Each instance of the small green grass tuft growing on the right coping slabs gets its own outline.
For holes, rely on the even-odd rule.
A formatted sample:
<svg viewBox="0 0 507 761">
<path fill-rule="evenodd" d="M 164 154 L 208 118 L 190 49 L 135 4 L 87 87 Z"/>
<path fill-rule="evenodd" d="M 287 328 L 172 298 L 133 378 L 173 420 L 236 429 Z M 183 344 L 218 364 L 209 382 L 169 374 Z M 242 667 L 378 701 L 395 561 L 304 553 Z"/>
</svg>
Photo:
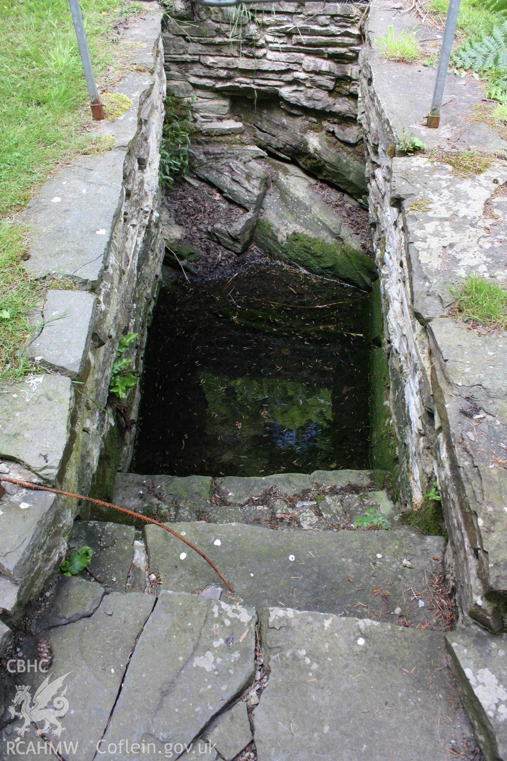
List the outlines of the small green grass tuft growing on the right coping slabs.
<svg viewBox="0 0 507 761">
<path fill-rule="evenodd" d="M 507 290 L 493 280 L 469 275 L 452 289 L 455 313 L 460 320 L 477 326 L 507 329 Z"/>
</svg>

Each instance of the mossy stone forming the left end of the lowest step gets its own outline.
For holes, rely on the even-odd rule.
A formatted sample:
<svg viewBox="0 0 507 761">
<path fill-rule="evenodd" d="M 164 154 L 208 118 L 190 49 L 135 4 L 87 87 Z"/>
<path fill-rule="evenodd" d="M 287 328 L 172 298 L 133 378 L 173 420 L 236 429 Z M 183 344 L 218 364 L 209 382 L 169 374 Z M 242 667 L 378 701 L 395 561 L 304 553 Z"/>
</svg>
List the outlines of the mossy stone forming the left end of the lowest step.
<svg viewBox="0 0 507 761">
<path fill-rule="evenodd" d="M 211 507 L 210 476 L 141 476 L 118 473 L 112 501 L 144 515 L 154 512 L 166 521 L 197 521 Z"/>
</svg>

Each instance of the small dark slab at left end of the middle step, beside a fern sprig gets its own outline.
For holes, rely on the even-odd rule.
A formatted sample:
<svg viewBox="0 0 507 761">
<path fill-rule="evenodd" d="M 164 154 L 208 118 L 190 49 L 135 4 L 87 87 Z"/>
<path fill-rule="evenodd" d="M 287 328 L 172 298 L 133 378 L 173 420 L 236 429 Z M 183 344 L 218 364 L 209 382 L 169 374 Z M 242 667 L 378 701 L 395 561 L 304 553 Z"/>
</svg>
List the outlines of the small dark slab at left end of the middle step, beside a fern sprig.
<svg viewBox="0 0 507 761">
<path fill-rule="evenodd" d="M 75 521 L 68 549 L 93 549 L 90 571 L 109 589 L 125 591 L 134 556 L 135 527 L 104 521 Z"/>
</svg>

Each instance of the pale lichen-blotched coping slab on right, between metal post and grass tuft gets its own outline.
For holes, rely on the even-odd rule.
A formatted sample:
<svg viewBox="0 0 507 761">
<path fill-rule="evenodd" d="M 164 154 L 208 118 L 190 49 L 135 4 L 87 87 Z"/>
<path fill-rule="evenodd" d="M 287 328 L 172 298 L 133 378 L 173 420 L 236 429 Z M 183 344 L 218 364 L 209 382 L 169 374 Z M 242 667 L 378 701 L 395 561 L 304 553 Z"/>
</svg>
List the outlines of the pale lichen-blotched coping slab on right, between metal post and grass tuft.
<svg viewBox="0 0 507 761">
<path fill-rule="evenodd" d="M 506 180 L 505 161 L 457 177 L 448 164 L 422 155 L 393 158 L 391 205 L 401 205 L 410 229 L 410 287 L 423 323 L 455 301 L 457 279 L 505 274 L 507 196 L 499 186 Z"/>
</svg>

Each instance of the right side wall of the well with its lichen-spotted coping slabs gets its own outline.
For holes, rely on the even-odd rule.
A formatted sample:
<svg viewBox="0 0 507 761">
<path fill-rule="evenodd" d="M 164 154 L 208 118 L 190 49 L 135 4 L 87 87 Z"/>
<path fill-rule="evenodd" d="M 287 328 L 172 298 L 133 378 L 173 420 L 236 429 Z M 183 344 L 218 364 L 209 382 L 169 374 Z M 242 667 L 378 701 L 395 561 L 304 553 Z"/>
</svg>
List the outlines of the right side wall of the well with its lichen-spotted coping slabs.
<svg viewBox="0 0 507 761">
<path fill-rule="evenodd" d="M 414 27 L 392 5 L 375 3 L 364 28 L 360 123 L 398 489 L 417 508 L 438 482 L 461 609 L 498 632 L 507 603 L 507 345 L 505 335 L 472 330 L 448 307 L 452 288 L 472 272 L 505 282 L 505 141 L 486 123 L 464 119 L 483 91 L 477 83 L 465 91 L 452 76 L 445 98 L 453 105 L 442 112 L 439 130 L 426 129 L 434 70 L 387 62 L 375 48 L 390 25 L 396 34 Z M 407 154 L 403 131 L 435 153 Z M 460 175 L 445 161 L 450 148 L 490 151 L 490 167 Z"/>
</svg>

